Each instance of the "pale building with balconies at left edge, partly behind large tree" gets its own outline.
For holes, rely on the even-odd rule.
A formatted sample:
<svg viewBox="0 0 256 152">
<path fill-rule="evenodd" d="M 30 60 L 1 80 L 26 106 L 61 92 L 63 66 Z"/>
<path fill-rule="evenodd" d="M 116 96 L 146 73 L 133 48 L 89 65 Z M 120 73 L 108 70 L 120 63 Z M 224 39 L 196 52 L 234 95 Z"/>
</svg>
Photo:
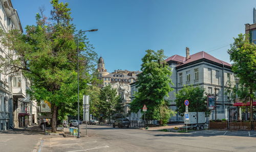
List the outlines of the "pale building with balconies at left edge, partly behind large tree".
<svg viewBox="0 0 256 152">
<path fill-rule="evenodd" d="M 8 33 L 16 29 L 23 33 L 19 16 L 10 0 L 0 0 L 0 27 Z M 6 55 L 15 52 L 0 44 L 0 62 L 9 60 Z M 7 69 L 8 70 L 8 69 Z M 9 72 L 7 72 L 9 73 Z M 30 101 L 26 98 L 26 79 L 21 71 L 0 74 L 0 131 L 18 128 L 29 121 Z"/>
</svg>

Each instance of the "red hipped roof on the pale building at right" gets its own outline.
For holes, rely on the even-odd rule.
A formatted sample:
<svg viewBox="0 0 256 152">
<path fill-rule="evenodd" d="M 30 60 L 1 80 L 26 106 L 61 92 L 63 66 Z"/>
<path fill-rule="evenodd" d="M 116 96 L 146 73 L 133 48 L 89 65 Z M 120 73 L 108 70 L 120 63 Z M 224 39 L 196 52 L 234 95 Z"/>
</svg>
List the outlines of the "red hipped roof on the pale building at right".
<svg viewBox="0 0 256 152">
<path fill-rule="evenodd" d="M 204 51 L 196 53 L 194 55 L 190 55 L 187 60 L 186 60 L 186 57 L 182 57 L 182 56 L 179 56 L 179 55 L 174 55 L 172 57 L 169 57 L 169 58 L 165 59 L 165 61 L 166 62 L 168 62 L 168 61 L 181 62 L 182 64 L 180 64 L 180 65 L 184 65 L 184 64 L 194 62 L 194 61 L 197 61 L 197 60 L 200 60 L 200 59 L 207 59 L 207 60 L 210 60 L 210 61 L 213 61 L 213 62 L 216 62 L 216 63 L 231 66 L 231 64 L 229 64 L 227 62 L 224 62 L 224 61 L 221 61 L 221 60 L 219 60 L 215 57 L 212 57 L 211 55 L 207 54 Z M 178 65 L 178 66 L 180 66 L 180 65 Z"/>
</svg>

